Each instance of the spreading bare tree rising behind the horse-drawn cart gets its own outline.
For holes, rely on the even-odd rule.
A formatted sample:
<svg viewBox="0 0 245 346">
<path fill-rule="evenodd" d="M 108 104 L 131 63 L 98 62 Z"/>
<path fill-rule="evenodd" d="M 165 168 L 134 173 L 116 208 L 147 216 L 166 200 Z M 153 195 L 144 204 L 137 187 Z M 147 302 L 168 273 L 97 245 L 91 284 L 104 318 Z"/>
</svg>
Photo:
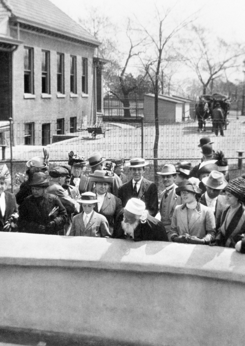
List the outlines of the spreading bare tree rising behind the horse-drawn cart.
<svg viewBox="0 0 245 346">
<path fill-rule="evenodd" d="M 210 93 L 213 92 L 216 78 L 226 70 L 239 66 L 237 59 L 244 54 L 244 49 L 239 44 L 228 44 L 221 38 L 210 37 L 208 30 L 200 26 L 193 25 L 192 33 L 194 37 L 183 40 L 187 47 L 185 60 L 196 72 L 205 95 L 208 87 Z"/>
</svg>

